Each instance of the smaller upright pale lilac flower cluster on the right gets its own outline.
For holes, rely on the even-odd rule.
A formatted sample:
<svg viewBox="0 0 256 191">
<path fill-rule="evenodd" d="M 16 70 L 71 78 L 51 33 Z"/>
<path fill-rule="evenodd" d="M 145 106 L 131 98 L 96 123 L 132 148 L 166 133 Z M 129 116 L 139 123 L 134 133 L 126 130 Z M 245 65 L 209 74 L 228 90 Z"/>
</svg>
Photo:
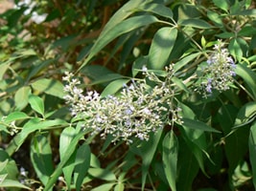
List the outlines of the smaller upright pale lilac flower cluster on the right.
<svg viewBox="0 0 256 191">
<path fill-rule="evenodd" d="M 214 52 L 209 56 L 206 65 L 200 68 L 198 79 L 200 84 L 196 91 L 209 96 L 213 90 L 219 92 L 229 89 L 236 75 L 236 65 L 228 50 L 223 48 L 221 40 L 214 47 Z"/>
</svg>

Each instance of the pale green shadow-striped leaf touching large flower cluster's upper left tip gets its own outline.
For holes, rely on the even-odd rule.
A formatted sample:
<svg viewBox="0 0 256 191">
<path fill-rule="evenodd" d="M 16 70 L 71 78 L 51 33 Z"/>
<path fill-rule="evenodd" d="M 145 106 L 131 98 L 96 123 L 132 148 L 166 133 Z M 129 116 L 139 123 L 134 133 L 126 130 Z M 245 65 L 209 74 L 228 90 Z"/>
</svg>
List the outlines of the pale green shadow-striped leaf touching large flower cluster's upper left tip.
<svg viewBox="0 0 256 191">
<path fill-rule="evenodd" d="M 55 79 L 42 78 L 36 80 L 31 85 L 36 91 L 39 91 L 40 93 L 46 93 L 51 96 L 58 96 L 59 98 L 63 98 L 63 96 L 65 96 L 63 85 Z"/>
</svg>

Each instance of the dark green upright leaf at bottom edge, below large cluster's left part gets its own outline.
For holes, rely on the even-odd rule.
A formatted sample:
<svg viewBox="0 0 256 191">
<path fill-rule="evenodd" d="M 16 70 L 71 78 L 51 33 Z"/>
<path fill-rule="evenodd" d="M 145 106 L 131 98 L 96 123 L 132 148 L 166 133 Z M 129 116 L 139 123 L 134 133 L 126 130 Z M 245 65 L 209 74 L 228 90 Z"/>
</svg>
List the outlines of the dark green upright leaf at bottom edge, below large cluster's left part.
<svg viewBox="0 0 256 191">
<path fill-rule="evenodd" d="M 87 174 L 90 166 L 91 151 L 87 143 L 83 143 L 77 151 L 76 166 L 74 170 L 74 180 L 76 183 L 76 189 L 81 190 L 82 180 Z"/>
</svg>

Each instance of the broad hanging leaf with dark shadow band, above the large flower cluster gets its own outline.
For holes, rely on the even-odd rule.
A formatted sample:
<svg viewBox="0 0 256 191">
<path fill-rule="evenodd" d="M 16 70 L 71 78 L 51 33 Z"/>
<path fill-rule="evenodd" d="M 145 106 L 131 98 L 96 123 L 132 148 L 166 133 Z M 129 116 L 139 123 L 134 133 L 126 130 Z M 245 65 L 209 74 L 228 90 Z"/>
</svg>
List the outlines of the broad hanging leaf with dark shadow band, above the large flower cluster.
<svg viewBox="0 0 256 191">
<path fill-rule="evenodd" d="M 170 27 L 161 28 L 154 34 L 149 53 L 149 69 L 160 70 L 167 64 L 175 46 L 176 35 L 177 30 Z"/>
</svg>

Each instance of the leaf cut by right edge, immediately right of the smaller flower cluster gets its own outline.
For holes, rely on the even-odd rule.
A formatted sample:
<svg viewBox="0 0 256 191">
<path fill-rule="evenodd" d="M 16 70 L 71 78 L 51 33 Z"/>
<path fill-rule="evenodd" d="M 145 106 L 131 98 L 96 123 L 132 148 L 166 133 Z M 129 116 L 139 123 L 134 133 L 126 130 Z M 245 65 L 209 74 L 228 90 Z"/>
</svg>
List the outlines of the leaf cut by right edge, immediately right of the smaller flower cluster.
<svg viewBox="0 0 256 191">
<path fill-rule="evenodd" d="M 237 65 L 235 72 L 244 79 L 246 90 L 253 96 L 254 100 L 256 100 L 256 74 L 242 64 Z"/>
</svg>

